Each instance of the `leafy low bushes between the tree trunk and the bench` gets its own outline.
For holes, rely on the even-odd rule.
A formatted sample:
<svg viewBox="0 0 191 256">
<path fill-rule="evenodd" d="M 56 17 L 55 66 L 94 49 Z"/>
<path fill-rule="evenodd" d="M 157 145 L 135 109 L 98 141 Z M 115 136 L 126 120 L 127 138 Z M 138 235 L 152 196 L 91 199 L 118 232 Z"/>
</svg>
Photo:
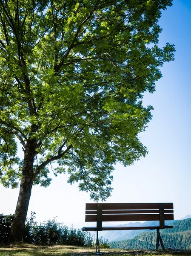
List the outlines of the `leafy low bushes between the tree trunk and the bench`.
<svg viewBox="0 0 191 256">
<path fill-rule="evenodd" d="M 31 244 L 66 244 L 75 246 L 92 246 L 93 236 L 80 229 L 70 229 L 59 223 L 55 218 L 44 221 L 37 225 L 34 221 L 35 212 L 31 212 L 31 217 L 26 220 L 24 241 Z"/>
</svg>

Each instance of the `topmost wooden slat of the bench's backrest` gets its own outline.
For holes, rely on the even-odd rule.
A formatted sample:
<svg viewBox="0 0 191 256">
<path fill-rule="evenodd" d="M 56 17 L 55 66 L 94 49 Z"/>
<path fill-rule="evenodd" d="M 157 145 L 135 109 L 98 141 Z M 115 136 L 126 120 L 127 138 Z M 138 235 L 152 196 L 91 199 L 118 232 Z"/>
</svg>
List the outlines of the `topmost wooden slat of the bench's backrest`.
<svg viewBox="0 0 191 256">
<path fill-rule="evenodd" d="M 160 203 L 161 204 L 161 203 Z M 162 203 L 164 209 L 173 209 L 173 203 Z M 96 203 L 87 203 L 86 210 L 96 210 Z M 146 210 L 146 209 L 159 209 L 159 203 L 104 203 L 103 210 Z"/>
</svg>

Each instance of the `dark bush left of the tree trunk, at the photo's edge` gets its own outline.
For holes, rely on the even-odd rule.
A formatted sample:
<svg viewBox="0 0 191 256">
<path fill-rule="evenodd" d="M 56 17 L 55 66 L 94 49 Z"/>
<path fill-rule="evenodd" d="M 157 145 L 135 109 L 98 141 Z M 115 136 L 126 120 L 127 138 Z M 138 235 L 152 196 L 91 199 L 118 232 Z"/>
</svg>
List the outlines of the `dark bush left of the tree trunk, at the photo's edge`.
<svg viewBox="0 0 191 256">
<path fill-rule="evenodd" d="M 0 214 L 0 244 L 8 242 L 12 221 L 13 215 L 4 216 Z"/>
</svg>

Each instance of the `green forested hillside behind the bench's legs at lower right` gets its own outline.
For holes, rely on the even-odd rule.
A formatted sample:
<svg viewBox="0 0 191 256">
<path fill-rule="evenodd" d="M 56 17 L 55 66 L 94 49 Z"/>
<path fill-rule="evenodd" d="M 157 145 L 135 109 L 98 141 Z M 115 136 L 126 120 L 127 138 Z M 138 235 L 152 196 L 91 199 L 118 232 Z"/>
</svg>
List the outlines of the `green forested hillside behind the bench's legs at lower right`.
<svg viewBox="0 0 191 256">
<path fill-rule="evenodd" d="M 191 249 L 191 218 L 174 221 L 172 229 L 161 230 L 165 248 Z M 140 233 L 133 239 L 110 242 L 111 248 L 155 249 L 157 232 Z"/>
</svg>

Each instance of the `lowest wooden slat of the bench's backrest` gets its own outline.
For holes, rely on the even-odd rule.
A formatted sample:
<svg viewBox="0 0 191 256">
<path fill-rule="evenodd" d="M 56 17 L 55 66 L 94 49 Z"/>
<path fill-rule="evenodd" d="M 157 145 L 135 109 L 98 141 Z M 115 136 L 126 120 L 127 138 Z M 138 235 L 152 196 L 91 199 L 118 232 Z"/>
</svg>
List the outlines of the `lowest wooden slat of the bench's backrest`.
<svg viewBox="0 0 191 256">
<path fill-rule="evenodd" d="M 165 221 L 174 220 L 174 214 L 165 214 Z M 97 221 L 97 215 L 86 215 L 85 221 Z M 159 214 L 115 214 L 115 215 L 102 215 L 102 221 L 159 221 Z"/>
</svg>

